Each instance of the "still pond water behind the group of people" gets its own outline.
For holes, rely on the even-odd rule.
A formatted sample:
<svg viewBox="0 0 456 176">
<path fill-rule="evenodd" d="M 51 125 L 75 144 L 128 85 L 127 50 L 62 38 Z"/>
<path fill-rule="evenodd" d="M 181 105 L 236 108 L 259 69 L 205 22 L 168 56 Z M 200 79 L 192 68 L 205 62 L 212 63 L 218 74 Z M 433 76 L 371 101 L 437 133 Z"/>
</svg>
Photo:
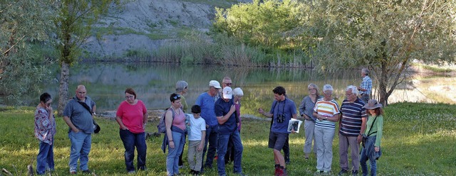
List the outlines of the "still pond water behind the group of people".
<svg viewBox="0 0 456 176">
<path fill-rule="evenodd" d="M 60 69 L 56 69 L 52 84 L 43 87 L 43 91 L 53 96 L 54 102 L 58 101 L 59 75 Z M 244 91 L 242 114 L 254 114 L 259 107 L 269 109 L 274 99 L 272 89 L 276 86 L 285 87 L 288 97 L 298 106 L 308 94 L 309 83 L 317 84 L 320 88 L 323 84 L 331 84 L 336 101 L 341 102 L 345 88 L 350 84 L 358 86 L 361 82 L 360 70 L 317 74 L 302 68 L 90 62 L 71 67 L 68 92 L 69 97 L 73 97 L 76 86 L 85 84 L 88 96 L 97 104 L 97 111 L 115 111 L 120 102 L 125 100 L 125 89 L 132 87 L 147 109 L 165 109 L 170 106 L 169 95 L 175 92 L 177 81 L 185 80 L 189 84 L 185 97 L 189 106 L 192 106 L 198 95 L 207 91 L 210 80 L 221 83 L 224 76 L 232 78 L 233 88 L 241 87 Z M 39 94 L 33 96 L 38 97 Z M 57 103 L 53 106 L 57 106 Z"/>
</svg>

